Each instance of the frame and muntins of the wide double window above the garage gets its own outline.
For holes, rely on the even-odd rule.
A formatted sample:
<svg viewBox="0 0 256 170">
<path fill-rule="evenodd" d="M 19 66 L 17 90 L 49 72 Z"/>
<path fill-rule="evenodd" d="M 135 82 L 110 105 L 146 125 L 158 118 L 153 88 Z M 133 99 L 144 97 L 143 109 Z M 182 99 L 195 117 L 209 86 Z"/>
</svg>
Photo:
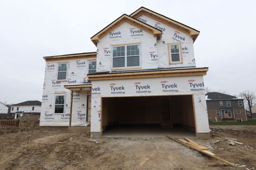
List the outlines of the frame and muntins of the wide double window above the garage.
<svg viewBox="0 0 256 170">
<path fill-rule="evenodd" d="M 138 45 L 139 46 L 139 65 L 138 66 L 127 66 L 127 46 Z M 124 46 L 124 67 L 113 67 L 113 47 Z M 134 55 L 137 56 L 137 55 Z M 121 56 L 120 56 L 121 57 Z M 132 57 L 132 56 L 128 56 Z M 116 57 L 117 58 L 117 57 Z M 141 68 L 141 45 L 140 43 L 127 43 L 127 44 L 113 44 L 111 45 L 111 70 L 126 70 L 126 69 L 139 69 Z"/>
</svg>

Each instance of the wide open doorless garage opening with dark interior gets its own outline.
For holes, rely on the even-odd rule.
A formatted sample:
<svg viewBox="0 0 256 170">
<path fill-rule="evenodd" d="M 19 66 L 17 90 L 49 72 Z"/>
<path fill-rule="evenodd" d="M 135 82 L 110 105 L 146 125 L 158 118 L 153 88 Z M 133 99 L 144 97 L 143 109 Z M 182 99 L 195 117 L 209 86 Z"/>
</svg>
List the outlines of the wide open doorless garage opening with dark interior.
<svg viewBox="0 0 256 170">
<path fill-rule="evenodd" d="M 102 97 L 103 137 L 196 137 L 193 96 Z"/>
</svg>

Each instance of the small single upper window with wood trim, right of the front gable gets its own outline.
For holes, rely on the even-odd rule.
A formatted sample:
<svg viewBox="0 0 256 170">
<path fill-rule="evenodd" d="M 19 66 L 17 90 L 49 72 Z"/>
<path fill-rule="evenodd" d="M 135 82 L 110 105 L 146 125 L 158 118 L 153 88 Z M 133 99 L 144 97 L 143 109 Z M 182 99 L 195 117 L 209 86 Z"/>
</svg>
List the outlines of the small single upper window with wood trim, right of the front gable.
<svg viewBox="0 0 256 170">
<path fill-rule="evenodd" d="M 182 63 L 182 50 L 181 43 L 168 44 L 169 51 L 169 64 L 181 64 Z"/>
</svg>

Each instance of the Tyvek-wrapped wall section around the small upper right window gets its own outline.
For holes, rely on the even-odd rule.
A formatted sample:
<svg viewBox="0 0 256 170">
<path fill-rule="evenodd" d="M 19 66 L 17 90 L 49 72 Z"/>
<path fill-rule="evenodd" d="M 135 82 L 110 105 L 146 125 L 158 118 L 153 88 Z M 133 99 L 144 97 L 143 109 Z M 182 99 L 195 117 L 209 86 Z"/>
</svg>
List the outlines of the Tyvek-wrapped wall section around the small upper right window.
<svg viewBox="0 0 256 170">
<path fill-rule="evenodd" d="M 162 30 L 162 38 L 157 40 L 157 54 L 159 68 L 169 67 L 192 67 L 196 66 L 193 39 L 172 27 L 165 25 L 159 21 L 141 15 L 137 18 L 139 21 L 145 22 L 152 27 Z M 168 43 L 182 43 L 183 64 L 169 64 Z"/>
</svg>

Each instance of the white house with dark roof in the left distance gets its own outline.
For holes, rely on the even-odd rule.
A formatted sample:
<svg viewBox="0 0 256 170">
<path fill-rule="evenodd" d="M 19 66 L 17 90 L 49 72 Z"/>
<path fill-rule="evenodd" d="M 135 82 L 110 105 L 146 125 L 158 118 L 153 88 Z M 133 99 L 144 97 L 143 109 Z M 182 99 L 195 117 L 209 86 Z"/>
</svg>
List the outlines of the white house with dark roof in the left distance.
<svg viewBox="0 0 256 170">
<path fill-rule="evenodd" d="M 40 115 L 41 113 L 41 101 L 29 100 L 22 103 L 12 105 L 11 114 L 14 119 L 24 116 L 25 114 Z"/>
</svg>

